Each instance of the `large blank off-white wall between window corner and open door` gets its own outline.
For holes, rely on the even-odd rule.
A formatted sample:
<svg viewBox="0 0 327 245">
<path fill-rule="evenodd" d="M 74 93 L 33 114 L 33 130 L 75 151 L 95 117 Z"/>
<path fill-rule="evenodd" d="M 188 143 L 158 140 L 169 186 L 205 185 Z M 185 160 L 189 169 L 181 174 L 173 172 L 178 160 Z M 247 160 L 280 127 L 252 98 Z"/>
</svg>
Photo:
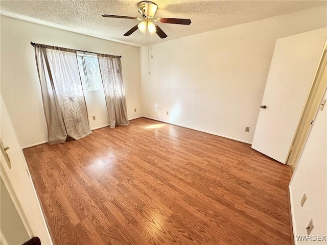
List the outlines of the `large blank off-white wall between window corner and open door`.
<svg viewBox="0 0 327 245">
<path fill-rule="evenodd" d="M 326 27 L 326 12 L 318 7 L 153 44 L 150 74 L 142 47 L 143 115 L 251 142 L 276 39 Z"/>
</svg>

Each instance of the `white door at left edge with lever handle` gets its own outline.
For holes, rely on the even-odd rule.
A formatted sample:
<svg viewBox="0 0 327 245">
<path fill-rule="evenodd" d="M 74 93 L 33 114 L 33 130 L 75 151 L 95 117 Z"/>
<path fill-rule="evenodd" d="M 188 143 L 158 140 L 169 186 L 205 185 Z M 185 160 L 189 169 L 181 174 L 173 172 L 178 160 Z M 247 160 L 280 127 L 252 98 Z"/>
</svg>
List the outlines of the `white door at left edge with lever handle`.
<svg viewBox="0 0 327 245">
<path fill-rule="evenodd" d="M 5 153 L 8 154 L 11 164 L 8 163 L 2 151 L 0 151 L 0 163 L 1 178 L 6 185 L 10 198 L 15 205 L 29 238 L 37 236 L 40 238 L 42 244 L 51 245 L 52 241 L 45 224 L 32 179 L 29 175 L 24 155 L 22 154 L 2 96 L 0 136 L 5 148 L 9 147 Z M 19 229 L 12 232 L 19 232 Z"/>
</svg>

